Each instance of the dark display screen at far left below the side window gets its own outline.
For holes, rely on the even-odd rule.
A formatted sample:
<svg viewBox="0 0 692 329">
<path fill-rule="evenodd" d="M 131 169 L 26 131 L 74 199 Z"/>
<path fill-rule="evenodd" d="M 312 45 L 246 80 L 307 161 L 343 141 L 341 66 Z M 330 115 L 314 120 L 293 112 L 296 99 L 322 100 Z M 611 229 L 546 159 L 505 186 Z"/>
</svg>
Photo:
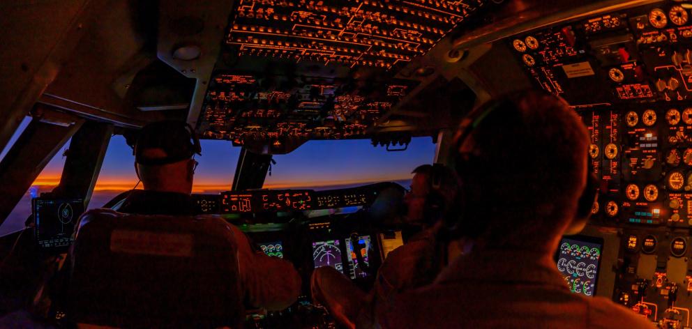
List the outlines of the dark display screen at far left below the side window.
<svg viewBox="0 0 692 329">
<path fill-rule="evenodd" d="M 61 249 L 73 243 L 75 224 L 84 213 L 84 199 L 32 200 L 36 242 L 44 249 Z"/>
</svg>

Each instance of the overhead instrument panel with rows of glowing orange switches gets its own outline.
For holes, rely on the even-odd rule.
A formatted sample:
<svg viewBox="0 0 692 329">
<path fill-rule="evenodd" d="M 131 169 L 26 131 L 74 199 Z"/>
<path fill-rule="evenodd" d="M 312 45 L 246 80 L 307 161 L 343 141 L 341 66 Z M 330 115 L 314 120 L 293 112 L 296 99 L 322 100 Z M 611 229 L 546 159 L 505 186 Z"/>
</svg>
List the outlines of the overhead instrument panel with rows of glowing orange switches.
<svg viewBox="0 0 692 329">
<path fill-rule="evenodd" d="M 265 146 L 368 138 L 421 84 L 396 73 L 483 3 L 238 1 L 197 132 Z"/>
</svg>

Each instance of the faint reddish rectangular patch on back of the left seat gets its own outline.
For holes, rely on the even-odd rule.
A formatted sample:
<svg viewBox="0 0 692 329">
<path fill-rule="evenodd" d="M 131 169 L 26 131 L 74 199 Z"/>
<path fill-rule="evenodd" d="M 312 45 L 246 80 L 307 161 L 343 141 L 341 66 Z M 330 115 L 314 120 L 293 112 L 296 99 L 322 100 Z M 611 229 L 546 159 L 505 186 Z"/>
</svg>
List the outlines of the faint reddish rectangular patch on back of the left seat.
<svg viewBox="0 0 692 329">
<path fill-rule="evenodd" d="M 193 243 L 193 236 L 190 234 L 116 229 L 110 235 L 110 251 L 126 254 L 191 257 Z"/>
</svg>

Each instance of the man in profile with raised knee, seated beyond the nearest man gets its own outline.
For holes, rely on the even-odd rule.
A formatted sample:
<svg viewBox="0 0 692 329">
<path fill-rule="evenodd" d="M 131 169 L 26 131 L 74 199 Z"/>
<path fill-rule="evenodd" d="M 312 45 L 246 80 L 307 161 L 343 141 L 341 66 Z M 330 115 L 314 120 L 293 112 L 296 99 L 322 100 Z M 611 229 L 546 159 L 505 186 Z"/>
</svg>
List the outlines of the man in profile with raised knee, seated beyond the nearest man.
<svg viewBox="0 0 692 329">
<path fill-rule="evenodd" d="M 412 174 L 411 190 L 404 197 L 405 222 L 423 230 L 387 255 L 373 290 L 362 291 L 331 267 L 313 272 L 313 299 L 349 328 L 373 326 L 375 308 L 386 308 L 396 293 L 430 284 L 443 267 L 436 236 L 440 216 L 456 194 L 456 175 L 442 164 L 423 164 Z"/>
</svg>

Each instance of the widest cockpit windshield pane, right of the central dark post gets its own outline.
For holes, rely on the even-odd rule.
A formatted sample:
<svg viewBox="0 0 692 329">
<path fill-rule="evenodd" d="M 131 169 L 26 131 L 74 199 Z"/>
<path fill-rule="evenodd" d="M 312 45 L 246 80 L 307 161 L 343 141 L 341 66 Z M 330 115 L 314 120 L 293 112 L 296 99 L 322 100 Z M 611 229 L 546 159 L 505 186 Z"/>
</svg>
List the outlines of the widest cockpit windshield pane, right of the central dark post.
<svg viewBox="0 0 692 329">
<path fill-rule="evenodd" d="M 394 181 L 408 187 L 411 171 L 435 158 L 430 137 L 415 137 L 406 151 L 387 152 L 368 139 L 313 140 L 292 153 L 274 155 L 264 188 L 329 190 Z"/>
</svg>

